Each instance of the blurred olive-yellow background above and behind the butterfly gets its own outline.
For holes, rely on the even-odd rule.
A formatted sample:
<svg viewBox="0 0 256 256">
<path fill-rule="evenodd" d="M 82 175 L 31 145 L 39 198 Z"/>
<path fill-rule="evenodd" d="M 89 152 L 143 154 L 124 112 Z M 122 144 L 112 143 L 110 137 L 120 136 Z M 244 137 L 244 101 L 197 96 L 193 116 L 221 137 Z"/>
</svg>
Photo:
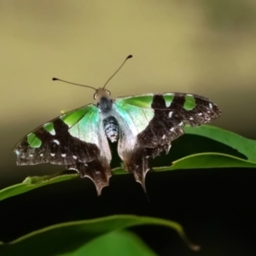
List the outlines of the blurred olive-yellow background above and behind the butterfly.
<svg viewBox="0 0 256 256">
<path fill-rule="evenodd" d="M 256 2 L 253 0 L 2 0 L 0 3 L 0 185 L 60 166 L 15 166 L 11 153 L 38 125 L 92 102 L 92 90 L 52 77 L 102 86 L 113 96 L 181 91 L 223 110 L 214 122 L 256 138 Z"/>
</svg>

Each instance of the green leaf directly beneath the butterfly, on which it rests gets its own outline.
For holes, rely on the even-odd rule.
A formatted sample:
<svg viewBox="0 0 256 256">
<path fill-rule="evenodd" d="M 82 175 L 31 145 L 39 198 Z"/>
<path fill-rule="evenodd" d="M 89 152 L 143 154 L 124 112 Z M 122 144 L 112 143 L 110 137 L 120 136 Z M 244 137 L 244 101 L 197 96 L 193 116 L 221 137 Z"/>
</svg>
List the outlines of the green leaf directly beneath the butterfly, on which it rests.
<svg viewBox="0 0 256 256">
<path fill-rule="evenodd" d="M 164 172 L 164 171 L 175 171 L 181 169 L 198 169 L 198 168 L 225 168 L 225 167 L 246 167 L 246 168 L 256 168 L 256 141 L 241 137 L 234 132 L 225 131 L 218 127 L 211 125 L 201 125 L 200 127 L 185 127 L 187 134 L 190 134 L 190 137 L 195 137 L 194 140 L 189 141 L 189 145 L 195 148 L 189 148 L 188 144 L 177 142 L 177 148 L 173 147 L 171 150 L 172 154 L 179 154 L 180 159 L 168 159 L 168 163 L 163 167 L 163 161 L 161 160 L 160 167 L 154 167 L 155 172 Z M 200 145 L 201 140 L 204 138 L 209 138 L 210 142 L 203 143 Z M 211 143 L 212 142 L 212 143 Z M 213 145 L 214 142 L 217 142 Z M 226 148 L 223 148 L 225 146 Z M 204 151 L 209 150 L 208 153 L 200 153 L 201 147 Z M 185 148 L 180 150 L 180 148 Z M 214 148 L 216 153 L 211 153 L 211 148 Z M 227 148 L 230 148 L 229 150 Z M 232 149 L 233 148 L 233 149 Z M 232 150 L 231 150 L 232 149 Z M 184 156 L 184 151 L 186 154 Z M 197 151 L 196 151 L 197 150 Z M 191 154 L 191 153 L 194 154 Z M 239 152 L 239 154 L 237 154 Z M 189 154 L 190 153 L 190 154 Z M 226 153 L 226 154 L 224 154 Z M 171 156 L 172 158 L 172 156 Z M 245 159 L 247 158 L 247 160 Z M 156 166 L 156 165 L 155 165 Z M 118 167 L 113 169 L 113 174 L 125 174 L 123 168 Z M 26 193 L 32 189 L 38 189 L 44 185 L 52 183 L 60 183 L 67 180 L 72 180 L 78 178 L 78 174 L 71 175 L 61 175 L 55 174 L 51 176 L 43 177 L 27 177 L 23 183 L 10 186 L 8 188 L 0 190 L 0 201 L 10 196 L 19 195 Z"/>
</svg>

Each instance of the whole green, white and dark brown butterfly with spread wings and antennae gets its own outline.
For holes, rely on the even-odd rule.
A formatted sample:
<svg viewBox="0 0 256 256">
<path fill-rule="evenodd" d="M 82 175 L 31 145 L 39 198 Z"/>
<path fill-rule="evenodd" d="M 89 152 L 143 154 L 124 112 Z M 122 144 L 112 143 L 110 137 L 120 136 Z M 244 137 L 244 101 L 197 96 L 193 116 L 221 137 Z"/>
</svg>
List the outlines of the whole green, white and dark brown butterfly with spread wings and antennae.
<svg viewBox="0 0 256 256">
<path fill-rule="evenodd" d="M 131 55 L 125 61 L 129 58 Z M 205 124 L 221 114 L 203 96 L 166 92 L 113 99 L 106 84 L 93 88 L 94 104 L 63 113 L 23 137 L 14 148 L 17 165 L 67 166 L 80 177 L 89 177 L 101 195 L 112 175 L 108 141 L 118 142 L 125 171 L 145 189 L 150 158 L 163 151 L 167 154 L 172 141 L 183 135 L 184 125 Z"/>
</svg>

